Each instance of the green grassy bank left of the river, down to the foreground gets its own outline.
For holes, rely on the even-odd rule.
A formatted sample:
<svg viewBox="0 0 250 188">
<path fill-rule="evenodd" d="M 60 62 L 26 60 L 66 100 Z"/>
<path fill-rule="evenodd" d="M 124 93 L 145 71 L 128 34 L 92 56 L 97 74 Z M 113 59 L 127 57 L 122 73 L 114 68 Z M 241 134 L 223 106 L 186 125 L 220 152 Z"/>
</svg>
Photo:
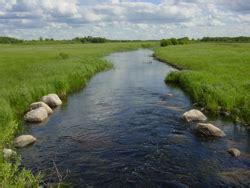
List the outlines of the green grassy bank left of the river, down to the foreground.
<svg viewBox="0 0 250 188">
<path fill-rule="evenodd" d="M 103 56 L 147 43 L 0 45 L 0 149 L 12 147 L 27 106 L 48 93 L 61 97 L 83 87 L 95 73 L 110 68 Z M 156 43 L 150 43 L 150 45 Z M 4 161 L 0 187 L 27 187 L 38 179 Z M 35 187 L 35 186 L 34 186 Z"/>
</svg>

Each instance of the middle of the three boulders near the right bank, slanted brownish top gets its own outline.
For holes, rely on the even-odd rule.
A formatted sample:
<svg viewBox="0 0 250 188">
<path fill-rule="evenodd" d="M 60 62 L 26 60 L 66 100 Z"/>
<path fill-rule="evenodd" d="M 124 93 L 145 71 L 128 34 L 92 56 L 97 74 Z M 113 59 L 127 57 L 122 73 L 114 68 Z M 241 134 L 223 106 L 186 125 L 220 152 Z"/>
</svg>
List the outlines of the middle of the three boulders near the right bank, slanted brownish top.
<svg viewBox="0 0 250 188">
<path fill-rule="evenodd" d="M 196 125 L 196 132 L 207 137 L 224 137 L 225 133 L 218 127 L 211 123 L 198 123 Z"/>
</svg>

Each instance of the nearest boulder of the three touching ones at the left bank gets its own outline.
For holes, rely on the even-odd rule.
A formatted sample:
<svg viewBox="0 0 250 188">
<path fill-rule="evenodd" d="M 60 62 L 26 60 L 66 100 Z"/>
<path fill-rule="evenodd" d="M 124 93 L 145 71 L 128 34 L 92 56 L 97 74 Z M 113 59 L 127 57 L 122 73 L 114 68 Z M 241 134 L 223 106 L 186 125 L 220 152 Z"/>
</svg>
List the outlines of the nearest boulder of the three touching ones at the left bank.
<svg viewBox="0 0 250 188">
<path fill-rule="evenodd" d="M 24 116 L 25 121 L 35 122 L 35 123 L 42 122 L 47 118 L 48 118 L 48 113 L 47 113 L 46 108 L 44 107 L 39 107 L 35 110 L 31 110 Z"/>
</svg>

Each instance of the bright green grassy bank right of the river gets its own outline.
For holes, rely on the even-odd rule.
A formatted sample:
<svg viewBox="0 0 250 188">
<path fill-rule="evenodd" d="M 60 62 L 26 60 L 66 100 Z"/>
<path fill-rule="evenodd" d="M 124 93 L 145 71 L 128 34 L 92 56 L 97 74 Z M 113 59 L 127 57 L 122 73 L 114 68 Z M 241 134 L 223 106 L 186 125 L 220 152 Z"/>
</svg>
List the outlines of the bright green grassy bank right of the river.
<svg viewBox="0 0 250 188">
<path fill-rule="evenodd" d="M 167 75 L 207 110 L 250 123 L 250 44 L 198 43 L 158 48 L 155 57 L 182 71 Z"/>
</svg>

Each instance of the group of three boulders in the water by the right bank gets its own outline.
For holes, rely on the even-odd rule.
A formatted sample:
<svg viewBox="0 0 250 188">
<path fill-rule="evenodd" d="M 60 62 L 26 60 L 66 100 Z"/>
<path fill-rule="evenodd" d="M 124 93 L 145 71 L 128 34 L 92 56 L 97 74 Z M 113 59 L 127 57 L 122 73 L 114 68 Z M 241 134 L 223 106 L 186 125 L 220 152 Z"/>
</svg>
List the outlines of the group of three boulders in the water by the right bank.
<svg viewBox="0 0 250 188">
<path fill-rule="evenodd" d="M 204 123 L 207 120 L 207 117 L 199 110 L 189 110 L 182 115 L 183 119 L 187 122 L 199 122 L 195 126 L 195 132 L 198 135 L 205 137 L 224 137 L 226 134 L 211 123 Z M 201 123 L 202 122 L 202 123 Z M 239 157 L 240 151 L 236 148 L 228 149 L 228 153 L 233 157 Z"/>
</svg>

